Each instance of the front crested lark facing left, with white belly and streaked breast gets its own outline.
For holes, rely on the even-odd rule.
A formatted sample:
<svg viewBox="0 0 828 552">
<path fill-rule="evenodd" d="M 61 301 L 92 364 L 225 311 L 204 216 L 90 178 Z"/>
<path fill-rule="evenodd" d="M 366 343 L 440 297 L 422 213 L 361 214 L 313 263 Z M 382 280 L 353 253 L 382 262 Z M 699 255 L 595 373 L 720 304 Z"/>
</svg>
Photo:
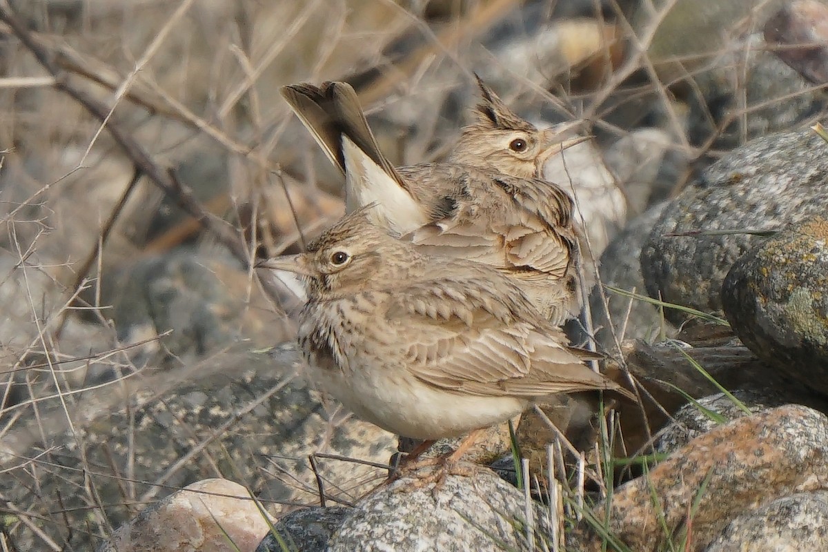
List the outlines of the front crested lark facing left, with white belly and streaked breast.
<svg viewBox="0 0 828 552">
<path fill-rule="evenodd" d="M 506 276 L 424 255 L 370 223 L 367 209 L 306 253 L 259 266 L 303 277 L 299 343 L 312 379 L 384 430 L 440 439 L 508 420 L 554 393 L 626 394 L 586 367 L 594 353 L 568 347 Z"/>
</svg>

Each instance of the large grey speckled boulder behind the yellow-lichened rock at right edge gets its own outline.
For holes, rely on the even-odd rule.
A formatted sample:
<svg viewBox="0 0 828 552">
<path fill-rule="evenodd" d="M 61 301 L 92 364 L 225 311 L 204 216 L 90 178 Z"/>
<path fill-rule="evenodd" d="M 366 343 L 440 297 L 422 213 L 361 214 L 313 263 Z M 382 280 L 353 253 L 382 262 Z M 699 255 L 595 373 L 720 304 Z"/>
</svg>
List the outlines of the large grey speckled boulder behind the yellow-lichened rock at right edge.
<svg viewBox="0 0 828 552">
<path fill-rule="evenodd" d="M 773 229 L 809 220 L 828 201 L 828 146 L 810 130 L 758 138 L 708 167 L 664 210 L 641 253 L 652 297 L 720 312 L 733 262 L 759 239 L 748 234 L 669 237 L 697 230 Z M 672 321 L 686 317 L 665 310 Z"/>
</svg>

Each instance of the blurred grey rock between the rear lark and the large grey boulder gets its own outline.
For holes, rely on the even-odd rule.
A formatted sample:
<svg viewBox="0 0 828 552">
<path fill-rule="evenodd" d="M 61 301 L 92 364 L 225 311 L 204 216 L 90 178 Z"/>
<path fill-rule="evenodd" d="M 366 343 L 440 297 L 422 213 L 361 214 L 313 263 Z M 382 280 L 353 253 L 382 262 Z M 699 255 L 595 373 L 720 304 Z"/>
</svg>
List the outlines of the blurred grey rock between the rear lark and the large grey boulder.
<svg viewBox="0 0 828 552">
<path fill-rule="evenodd" d="M 639 295 L 647 294 L 639 257 L 652 225 L 666 208 L 667 203 L 658 204 L 647 213 L 634 218 L 609 243 L 601 255 L 598 268 L 601 282 L 605 286 L 634 291 Z M 609 316 L 606 305 L 609 305 Z M 662 331 L 667 335 L 675 333 L 672 324 L 662 320 L 655 305 L 611 290 L 601 290 L 597 286 L 590 293 L 590 312 L 599 348 L 608 352 L 617 350 L 614 336 L 621 342 L 624 339 L 652 339 Z"/>
</svg>

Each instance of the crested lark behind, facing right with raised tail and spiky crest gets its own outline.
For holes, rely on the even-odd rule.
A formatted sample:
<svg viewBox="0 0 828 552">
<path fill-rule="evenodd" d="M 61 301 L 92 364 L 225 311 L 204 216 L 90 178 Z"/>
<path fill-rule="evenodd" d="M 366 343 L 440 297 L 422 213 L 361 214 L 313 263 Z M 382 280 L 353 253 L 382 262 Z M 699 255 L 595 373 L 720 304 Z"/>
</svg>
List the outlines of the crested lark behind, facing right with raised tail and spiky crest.
<svg viewBox="0 0 828 552">
<path fill-rule="evenodd" d="M 293 84 L 282 95 L 344 173 L 349 212 L 376 204 L 372 222 L 423 251 L 498 268 L 561 324 L 580 299 L 572 200 L 534 175 L 553 153 L 583 139 L 556 141 L 479 85 L 479 120 L 464 129 L 450 161 L 401 167 L 379 150 L 349 84 Z"/>
</svg>

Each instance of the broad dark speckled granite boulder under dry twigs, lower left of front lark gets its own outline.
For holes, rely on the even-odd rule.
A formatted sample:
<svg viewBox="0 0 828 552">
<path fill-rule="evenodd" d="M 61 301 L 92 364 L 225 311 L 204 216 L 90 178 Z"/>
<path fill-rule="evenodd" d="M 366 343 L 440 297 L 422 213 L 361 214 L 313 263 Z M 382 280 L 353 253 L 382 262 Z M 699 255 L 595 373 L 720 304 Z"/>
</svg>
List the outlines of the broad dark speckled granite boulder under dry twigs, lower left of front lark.
<svg viewBox="0 0 828 552">
<path fill-rule="evenodd" d="M 192 365 L 146 367 L 76 394 L 83 401 L 51 396 L 17 410 L 0 443 L 0 494 L 40 520 L 40 533 L 17 535 L 18 549 L 41 550 L 42 534 L 89 550 L 108 524 L 136 516 L 135 504 L 205 478 L 233 478 L 276 515 L 319 504 L 317 473 L 335 482 L 324 485 L 329 500 L 355 501 L 386 475 L 357 460 L 387 462 L 396 439 L 320 400 L 296 377 L 300 366 L 294 348 L 241 343 Z M 312 454 L 335 458 L 314 465 Z M 59 502 L 65 512 L 55 513 Z M 78 526 L 89 530 L 67 529 Z"/>
</svg>

